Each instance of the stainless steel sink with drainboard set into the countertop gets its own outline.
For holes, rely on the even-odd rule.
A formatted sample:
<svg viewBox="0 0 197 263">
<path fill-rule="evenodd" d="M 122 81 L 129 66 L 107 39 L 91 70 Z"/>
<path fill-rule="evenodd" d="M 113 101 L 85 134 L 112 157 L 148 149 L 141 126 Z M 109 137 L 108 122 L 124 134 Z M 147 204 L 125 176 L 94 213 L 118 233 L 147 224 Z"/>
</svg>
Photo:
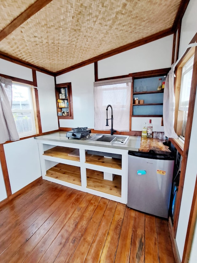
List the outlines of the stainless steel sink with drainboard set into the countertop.
<svg viewBox="0 0 197 263">
<path fill-rule="evenodd" d="M 122 136 L 122 135 L 95 134 L 86 140 L 87 141 L 98 141 L 98 142 L 111 142 L 111 143 L 118 143 L 118 144 L 126 144 L 128 138 L 129 138 L 129 136 Z"/>
</svg>

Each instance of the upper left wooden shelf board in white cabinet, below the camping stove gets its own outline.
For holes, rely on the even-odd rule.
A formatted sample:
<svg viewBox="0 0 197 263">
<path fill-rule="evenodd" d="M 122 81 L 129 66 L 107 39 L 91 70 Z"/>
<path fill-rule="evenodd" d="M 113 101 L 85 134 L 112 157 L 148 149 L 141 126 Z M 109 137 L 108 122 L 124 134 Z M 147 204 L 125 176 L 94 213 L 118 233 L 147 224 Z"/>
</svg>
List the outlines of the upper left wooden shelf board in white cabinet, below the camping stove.
<svg viewBox="0 0 197 263">
<path fill-rule="evenodd" d="M 78 149 L 55 146 L 54 148 L 44 151 L 43 155 L 79 162 L 78 152 Z"/>
</svg>

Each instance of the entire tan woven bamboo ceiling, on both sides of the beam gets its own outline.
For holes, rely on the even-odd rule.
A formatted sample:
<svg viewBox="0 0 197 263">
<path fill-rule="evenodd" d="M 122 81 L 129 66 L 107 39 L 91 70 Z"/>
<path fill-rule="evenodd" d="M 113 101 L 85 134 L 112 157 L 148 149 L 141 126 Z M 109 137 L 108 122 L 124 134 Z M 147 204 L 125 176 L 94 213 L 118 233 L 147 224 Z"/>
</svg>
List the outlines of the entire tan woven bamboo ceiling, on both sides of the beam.
<svg viewBox="0 0 197 263">
<path fill-rule="evenodd" d="M 34 2 L 1 1 L 0 30 Z M 53 0 L 2 39 L 0 52 L 58 72 L 170 29 L 180 2 Z"/>
</svg>

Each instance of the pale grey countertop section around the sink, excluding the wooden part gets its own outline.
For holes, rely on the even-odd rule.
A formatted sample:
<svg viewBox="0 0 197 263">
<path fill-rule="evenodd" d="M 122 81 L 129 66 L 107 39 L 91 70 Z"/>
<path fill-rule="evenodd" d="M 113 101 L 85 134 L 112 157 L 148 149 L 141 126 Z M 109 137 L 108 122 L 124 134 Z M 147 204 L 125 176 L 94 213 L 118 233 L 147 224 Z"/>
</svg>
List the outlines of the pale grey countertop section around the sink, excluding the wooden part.
<svg viewBox="0 0 197 263">
<path fill-rule="evenodd" d="M 91 133 L 90 136 L 95 135 L 95 133 Z M 83 144 L 83 145 L 90 145 L 90 146 L 100 146 L 106 148 L 114 148 L 114 149 L 122 149 L 122 150 L 133 150 L 138 151 L 138 148 L 135 148 L 136 141 L 138 136 L 129 136 L 128 141 L 126 144 L 117 144 L 111 142 L 97 142 L 97 141 L 86 141 L 87 137 L 83 137 L 80 140 L 74 138 L 67 138 L 66 132 L 59 131 L 50 134 L 45 134 L 41 136 L 34 137 L 36 140 L 45 140 L 45 141 L 54 141 L 54 142 L 66 142 L 71 144 Z"/>
</svg>

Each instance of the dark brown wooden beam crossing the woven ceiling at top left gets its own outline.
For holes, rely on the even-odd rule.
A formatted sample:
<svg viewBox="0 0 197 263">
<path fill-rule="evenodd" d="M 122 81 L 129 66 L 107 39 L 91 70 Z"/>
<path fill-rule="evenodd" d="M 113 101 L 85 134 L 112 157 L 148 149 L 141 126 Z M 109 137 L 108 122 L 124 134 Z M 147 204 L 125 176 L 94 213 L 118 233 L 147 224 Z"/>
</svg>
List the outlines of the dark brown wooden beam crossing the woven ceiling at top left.
<svg viewBox="0 0 197 263">
<path fill-rule="evenodd" d="M 21 26 L 32 15 L 36 14 L 39 10 L 45 7 L 52 0 L 37 0 L 29 6 L 22 14 L 15 18 L 8 26 L 0 32 L 0 41 L 10 35 L 15 29 Z"/>
</svg>

